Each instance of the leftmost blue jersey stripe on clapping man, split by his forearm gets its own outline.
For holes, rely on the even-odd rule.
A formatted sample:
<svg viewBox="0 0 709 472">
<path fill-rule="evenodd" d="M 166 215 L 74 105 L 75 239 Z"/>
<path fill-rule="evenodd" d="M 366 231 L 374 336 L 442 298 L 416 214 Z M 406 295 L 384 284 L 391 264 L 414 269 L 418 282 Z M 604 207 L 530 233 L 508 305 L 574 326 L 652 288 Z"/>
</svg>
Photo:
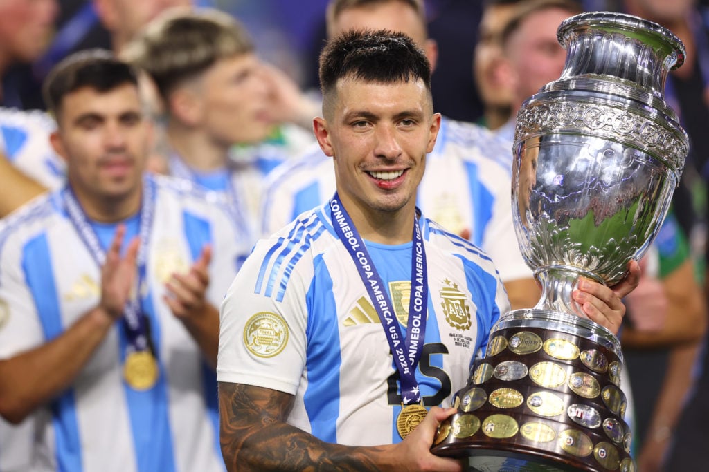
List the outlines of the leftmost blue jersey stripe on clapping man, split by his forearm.
<svg viewBox="0 0 709 472">
<path fill-rule="evenodd" d="M 42 324 L 45 341 L 64 332 L 60 299 L 52 277 L 52 258 L 46 234 L 28 241 L 23 248 L 22 266 Z M 82 472 L 82 442 L 79 434 L 74 391 L 68 389 L 50 405 L 55 431 L 55 449 L 60 472 Z"/>
</svg>

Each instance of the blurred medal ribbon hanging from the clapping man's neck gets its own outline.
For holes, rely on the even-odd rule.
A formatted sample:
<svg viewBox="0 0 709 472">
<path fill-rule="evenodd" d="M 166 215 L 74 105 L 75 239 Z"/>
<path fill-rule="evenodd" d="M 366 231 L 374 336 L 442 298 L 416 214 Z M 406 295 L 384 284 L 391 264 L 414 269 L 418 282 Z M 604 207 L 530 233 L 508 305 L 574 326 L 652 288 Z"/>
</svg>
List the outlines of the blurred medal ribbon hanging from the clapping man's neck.
<svg viewBox="0 0 709 472">
<path fill-rule="evenodd" d="M 146 261 L 147 261 L 147 242 L 150 239 L 150 231 L 152 229 L 152 219 L 155 212 L 155 183 L 152 180 L 145 179 L 143 185 L 143 201 L 140 205 L 140 224 L 138 236 L 140 245 L 138 246 L 138 255 L 136 263 L 138 265 L 138 293 L 134 299 L 130 299 L 123 309 L 123 326 L 128 334 L 128 353 L 135 351 L 145 351 L 150 348 L 150 343 L 147 339 L 147 330 L 145 327 L 145 316 L 140 312 L 140 287 L 146 277 Z M 91 228 L 86 212 L 79 204 L 76 195 L 67 185 L 62 190 L 62 197 L 67 207 L 69 220 L 72 221 L 74 228 L 79 233 L 84 246 L 89 249 L 96 264 L 103 267 L 106 263 L 106 251 L 101 247 L 99 236 L 96 236 L 96 231 Z M 152 353 L 155 355 L 155 353 Z"/>
</svg>

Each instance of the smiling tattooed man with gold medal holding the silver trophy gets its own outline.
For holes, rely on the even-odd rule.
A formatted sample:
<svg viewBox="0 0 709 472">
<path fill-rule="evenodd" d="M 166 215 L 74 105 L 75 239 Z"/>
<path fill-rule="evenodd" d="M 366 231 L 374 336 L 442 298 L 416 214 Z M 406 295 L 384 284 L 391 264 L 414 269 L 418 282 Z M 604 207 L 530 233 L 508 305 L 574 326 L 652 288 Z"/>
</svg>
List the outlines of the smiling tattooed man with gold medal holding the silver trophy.
<svg viewBox="0 0 709 472">
<path fill-rule="evenodd" d="M 491 260 L 415 206 L 441 121 L 430 64 L 406 35 L 354 31 L 323 50 L 320 84 L 313 129 L 337 192 L 259 241 L 223 301 L 225 463 L 460 471 L 429 451 L 454 412 L 439 405 L 509 304 Z M 588 285 L 576 300 L 620 323 L 618 295 Z"/>
</svg>

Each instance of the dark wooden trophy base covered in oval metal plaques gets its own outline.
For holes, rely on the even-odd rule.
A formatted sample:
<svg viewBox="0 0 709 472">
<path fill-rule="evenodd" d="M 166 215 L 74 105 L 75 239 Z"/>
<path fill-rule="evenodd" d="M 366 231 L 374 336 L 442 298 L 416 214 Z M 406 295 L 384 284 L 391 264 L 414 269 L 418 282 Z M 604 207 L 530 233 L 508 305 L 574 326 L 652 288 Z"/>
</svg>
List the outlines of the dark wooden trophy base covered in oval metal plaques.
<svg viewBox="0 0 709 472">
<path fill-rule="evenodd" d="M 472 471 L 633 472 L 621 369 L 615 336 L 592 321 L 507 313 L 431 451 Z"/>
</svg>

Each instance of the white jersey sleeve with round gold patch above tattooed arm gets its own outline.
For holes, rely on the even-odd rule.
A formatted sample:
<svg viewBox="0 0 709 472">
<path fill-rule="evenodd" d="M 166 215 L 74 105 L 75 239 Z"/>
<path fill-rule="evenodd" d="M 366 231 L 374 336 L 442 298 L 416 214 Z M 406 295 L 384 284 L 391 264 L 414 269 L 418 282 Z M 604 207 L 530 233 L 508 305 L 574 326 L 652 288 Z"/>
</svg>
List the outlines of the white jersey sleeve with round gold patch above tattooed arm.
<svg viewBox="0 0 709 472">
<path fill-rule="evenodd" d="M 312 264 L 301 259 L 279 290 L 279 239 L 259 241 L 220 307 L 217 380 L 295 394 L 306 367 L 306 291 Z M 286 243 L 287 247 L 287 243 Z"/>
</svg>

